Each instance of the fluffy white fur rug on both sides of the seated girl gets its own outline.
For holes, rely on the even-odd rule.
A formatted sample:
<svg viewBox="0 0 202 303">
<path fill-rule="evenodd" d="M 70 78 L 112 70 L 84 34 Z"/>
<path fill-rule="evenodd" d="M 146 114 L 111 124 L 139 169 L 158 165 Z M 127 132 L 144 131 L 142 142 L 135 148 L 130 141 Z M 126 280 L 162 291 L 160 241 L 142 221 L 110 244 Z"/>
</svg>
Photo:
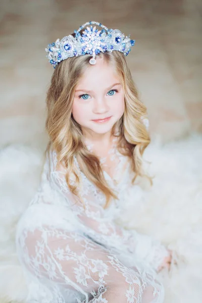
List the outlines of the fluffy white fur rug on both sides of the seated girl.
<svg viewBox="0 0 202 303">
<path fill-rule="evenodd" d="M 175 251 L 178 265 L 162 272 L 165 303 L 202 300 L 202 136 L 147 147 L 155 175 L 149 191 L 137 190 L 121 224 L 160 239 Z M 23 302 L 26 285 L 15 252 L 15 226 L 33 196 L 42 151 L 15 144 L 0 150 L 0 303 Z"/>
</svg>

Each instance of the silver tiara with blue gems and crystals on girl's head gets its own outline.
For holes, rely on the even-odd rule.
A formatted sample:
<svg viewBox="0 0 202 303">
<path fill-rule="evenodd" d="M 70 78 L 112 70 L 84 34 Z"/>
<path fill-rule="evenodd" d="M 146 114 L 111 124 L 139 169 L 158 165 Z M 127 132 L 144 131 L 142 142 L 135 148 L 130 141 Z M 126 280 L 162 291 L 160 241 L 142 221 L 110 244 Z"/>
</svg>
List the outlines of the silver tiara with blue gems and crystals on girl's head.
<svg viewBox="0 0 202 303">
<path fill-rule="evenodd" d="M 102 30 L 96 29 L 95 26 L 92 27 L 92 24 L 98 25 Z M 87 25 L 90 25 L 90 27 Z M 84 31 L 81 34 L 82 29 Z M 108 29 L 103 24 L 95 21 L 86 22 L 74 33 L 75 37 L 72 35 L 65 36 L 61 40 L 57 39 L 56 42 L 48 44 L 45 48 L 48 53 L 46 57 L 54 68 L 62 60 L 86 54 L 92 56 L 89 60 L 92 65 L 96 63 L 95 56 L 100 52 L 119 51 L 127 56 L 130 53 L 131 46 L 135 44 L 135 40 L 131 40 L 130 35 L 125 36 L 118 29 Z"/>
</svg>

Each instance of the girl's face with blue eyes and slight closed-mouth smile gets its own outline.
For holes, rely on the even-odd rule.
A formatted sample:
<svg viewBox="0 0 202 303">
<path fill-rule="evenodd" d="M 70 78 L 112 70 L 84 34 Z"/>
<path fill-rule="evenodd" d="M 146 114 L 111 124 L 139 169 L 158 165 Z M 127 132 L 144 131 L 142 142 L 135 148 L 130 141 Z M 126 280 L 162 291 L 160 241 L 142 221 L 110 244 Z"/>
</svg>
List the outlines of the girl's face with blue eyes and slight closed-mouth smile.
<svg viewBox="0 0 202 303">
<path fill-rule="evenodd" d="M 84 132 L 105 134 L 122 117 L 124 105 L 124 91 L 115 69 L 96 58 L 96 64 L 87 68 L 76 86 L 72 109 L 75 121 Z"/>
</svg>

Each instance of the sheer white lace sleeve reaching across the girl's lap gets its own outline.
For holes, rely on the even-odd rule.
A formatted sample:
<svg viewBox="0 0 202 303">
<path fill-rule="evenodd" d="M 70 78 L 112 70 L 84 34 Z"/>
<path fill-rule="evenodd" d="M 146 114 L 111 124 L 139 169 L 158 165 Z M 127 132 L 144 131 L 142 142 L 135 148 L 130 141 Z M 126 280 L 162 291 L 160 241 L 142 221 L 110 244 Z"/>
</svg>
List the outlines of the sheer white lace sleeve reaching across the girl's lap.
<svg viewBox="0 0 202 303">
<path fill-rule="evenodd" d="M 112 218 L 106 216 L 106 210 L 96 201 L 92 189 L 83 190 L 83 205 L 70 192 L 66 180 L 64 168 L 56 170 L 57 157 L 53 154 L 52 182 L 57 190 L 74 205 L 74 212 L 79 218 L 84 233 L 95 242 L 108 247 L 114 247 L 118 251 L 125 251 L 133 254 L 134 258 L 143 260 L 145 265 L 158 270 L 163 264 L 165 257 L 169 256 L 168 249 L 160 241 L 143 235 L 135 230 L 126 230 L 116 224 Z M 96 196 L 97 197 L 97 196 Z"/>
</svg>

